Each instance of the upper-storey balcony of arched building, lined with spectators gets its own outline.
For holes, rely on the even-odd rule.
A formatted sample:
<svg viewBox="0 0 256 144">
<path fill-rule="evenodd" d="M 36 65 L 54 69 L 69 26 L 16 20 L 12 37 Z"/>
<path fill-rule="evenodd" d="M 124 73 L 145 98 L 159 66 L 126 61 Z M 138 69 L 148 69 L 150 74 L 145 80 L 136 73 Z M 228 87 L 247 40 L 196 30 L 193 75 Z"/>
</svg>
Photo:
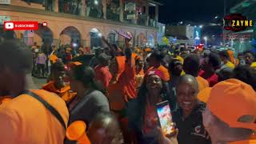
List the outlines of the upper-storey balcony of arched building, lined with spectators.
<svg viewBox="0 0 256 144">
<path fill-rule="evenodd" d="M 155 18 L 149 18 L 145 10 L 143 13 L 134 10 L 125 10 L 126 3 L 119 0 L 14 0 L 10 5 L 0 5 L 3 9 L 18 10 L 34 14 L 50 14 L 64 18 L 87 19 L 97 22 L 118 22 L 137 26 L 158 28 Z M 94 2 L 98 2 L 95 4 Z M 75 15 L 75 16 L 72 16 Z"/>
</svg>

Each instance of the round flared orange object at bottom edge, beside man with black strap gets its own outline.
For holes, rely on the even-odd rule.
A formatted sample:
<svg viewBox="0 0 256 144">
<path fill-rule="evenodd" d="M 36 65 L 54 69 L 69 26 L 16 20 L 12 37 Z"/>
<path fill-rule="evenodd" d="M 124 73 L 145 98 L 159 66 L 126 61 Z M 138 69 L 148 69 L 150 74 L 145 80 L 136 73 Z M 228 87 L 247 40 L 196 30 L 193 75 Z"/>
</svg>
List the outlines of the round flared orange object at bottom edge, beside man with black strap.
<svg viewBox="0 0 256 144">
<path fill-rule="evenodd" d="M 66 130 L 66 138 L 81 144 L 90 144 L 90 140 L 86 135 L 86 123 L 82 121 L 71 123 Z"/>
</svg>

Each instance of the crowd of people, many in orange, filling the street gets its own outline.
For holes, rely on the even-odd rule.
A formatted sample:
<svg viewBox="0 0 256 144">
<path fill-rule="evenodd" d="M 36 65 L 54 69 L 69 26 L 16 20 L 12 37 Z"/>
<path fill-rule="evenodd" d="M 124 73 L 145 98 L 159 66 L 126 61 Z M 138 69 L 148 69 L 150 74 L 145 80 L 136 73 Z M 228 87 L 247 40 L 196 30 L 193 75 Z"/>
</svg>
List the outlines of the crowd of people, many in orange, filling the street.
<svg viewBox="0 0 256 144">
<path fill-rule="evenodd" d="M 96 49 L 88 66 L 69 47 L 52 46 L 46 55 L 13 40 L 0 44 L 0 143 L 76 143 L 66 129 L 77 121 L 93 144 L 256 141 L 254 53 L 141 49 L 128 38 L 122 49 L 102 41 L 107 47 Z M 46 85 L 31 90 L 26 76 L 46 74 L 46 61 Z M 172 134 L 159 124 L 161 102 L 169 103 Z"/>
</svg>

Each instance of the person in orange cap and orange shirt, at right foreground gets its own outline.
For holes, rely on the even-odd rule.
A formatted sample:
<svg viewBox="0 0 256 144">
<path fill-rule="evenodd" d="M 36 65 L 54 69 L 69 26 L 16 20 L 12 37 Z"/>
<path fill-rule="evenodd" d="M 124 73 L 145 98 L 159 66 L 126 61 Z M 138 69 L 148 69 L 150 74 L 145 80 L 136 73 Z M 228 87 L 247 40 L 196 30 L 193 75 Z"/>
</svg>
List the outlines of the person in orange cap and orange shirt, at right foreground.
<svg viewBox="0 0 256 144">
<path fill-rule="evenodd" d="M 238 79 L 218 82 L 209 89 L 203 125 L 213 144 L 252 144 L 256 130 L 256 93 Z"/>
</svg>

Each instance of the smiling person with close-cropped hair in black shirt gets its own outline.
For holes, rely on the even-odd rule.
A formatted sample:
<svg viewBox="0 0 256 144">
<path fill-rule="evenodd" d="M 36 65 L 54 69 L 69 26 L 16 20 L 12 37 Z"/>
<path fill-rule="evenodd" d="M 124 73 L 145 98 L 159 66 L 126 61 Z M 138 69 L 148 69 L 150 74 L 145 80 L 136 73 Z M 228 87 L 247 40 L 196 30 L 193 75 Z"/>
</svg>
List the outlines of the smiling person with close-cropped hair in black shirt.
<svg viewBox="0 0 256 144">
<path fill-rule="evenodd" d="M 198 82 L 192 75 L 183 75 L 176 86 L 180 107 L 173 113 L 178 128 L 179 144 L 210 144 L 210 137 L 202 125 L 205 104 L 198 101 Z"/>
</svg>

